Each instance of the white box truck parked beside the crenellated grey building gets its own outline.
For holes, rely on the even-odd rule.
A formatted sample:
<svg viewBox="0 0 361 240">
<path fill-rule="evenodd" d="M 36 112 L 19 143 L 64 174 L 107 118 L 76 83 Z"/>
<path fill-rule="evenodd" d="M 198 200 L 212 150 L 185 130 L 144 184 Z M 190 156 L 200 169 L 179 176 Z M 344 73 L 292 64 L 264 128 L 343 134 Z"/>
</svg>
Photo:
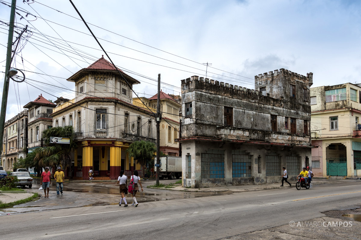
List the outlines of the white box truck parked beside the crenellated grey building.
<svg viewBox="0 0 361 240">
<path fill-rule="evenodd" d="M 154 167 L 157 169 L 157 167 Z M 169 180 L 182 176 L 182 157 L 161 156 L 159 163 L 159 179 L 168 177 Z"/>
</svg>

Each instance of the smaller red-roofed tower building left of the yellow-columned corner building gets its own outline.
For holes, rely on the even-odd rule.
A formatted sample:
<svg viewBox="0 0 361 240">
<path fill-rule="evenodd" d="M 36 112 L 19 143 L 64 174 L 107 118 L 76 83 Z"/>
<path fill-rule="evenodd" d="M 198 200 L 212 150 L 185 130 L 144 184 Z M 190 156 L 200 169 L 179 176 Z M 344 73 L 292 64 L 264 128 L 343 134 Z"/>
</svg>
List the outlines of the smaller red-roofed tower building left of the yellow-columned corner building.
<svg viewBox="0 0 361 240">
<path fill-rule="evenodd" d="M 27 124 L 29 152 L 42 145 L 43 131 L 53 127 L 53 118 L 50 114 L 53 113 L 54 107 L 56 107 L 56 104 L 45 99 L 42 94 L 24 106 L 29 112 Z"/>
</svg>

